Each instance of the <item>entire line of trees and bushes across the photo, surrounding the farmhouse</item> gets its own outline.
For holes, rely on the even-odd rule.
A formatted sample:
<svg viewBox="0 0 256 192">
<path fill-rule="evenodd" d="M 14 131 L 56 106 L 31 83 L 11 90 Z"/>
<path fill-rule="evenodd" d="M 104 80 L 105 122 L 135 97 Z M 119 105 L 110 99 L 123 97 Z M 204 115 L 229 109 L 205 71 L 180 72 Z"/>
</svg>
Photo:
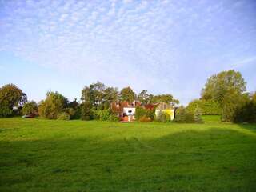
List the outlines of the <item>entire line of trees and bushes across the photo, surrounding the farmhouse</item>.
<svg viewBox="0 0 256 192">
<path fill-rule="evenodd" d="M 27 96 L 18 86 L 7 84 L 0 88 L 0 117 L 19 114 L 39 114 L 49 119 L 101 119 L 116 121 L 111 114 L 110 103 L 137 100 L 142 105 L 166 102 L 177 106 L 179 101 L 172 94 L 150 94 L 142 90 L 135 94 L 130 86 L 118 90 L 95 82 L 82 89 L 81 101 L 69 101 L 58 92 L 48 91 L 46 98 L 39 103 L 28 102 Z M 144 111 L 144 112 L 143 112 Z M 154 113 L 138 110 L 145 121 Z M 226 122 L 256 122 L 256 93 L 246 92 L 246 82 L 242 74 L 235 70 L 222 71 L 207 79 L 201 97 L 194 99 L 188 106 L 180 106 L 175 113 L 176 122 L 202 122 L 202 114 L 219 114 Z M 158 119 L 165 119 L 164 114 Z M 157 119 L 157 118 L 156 118 Z M 163 122 L 165 122 L 164 120 Z"/>
</svg>

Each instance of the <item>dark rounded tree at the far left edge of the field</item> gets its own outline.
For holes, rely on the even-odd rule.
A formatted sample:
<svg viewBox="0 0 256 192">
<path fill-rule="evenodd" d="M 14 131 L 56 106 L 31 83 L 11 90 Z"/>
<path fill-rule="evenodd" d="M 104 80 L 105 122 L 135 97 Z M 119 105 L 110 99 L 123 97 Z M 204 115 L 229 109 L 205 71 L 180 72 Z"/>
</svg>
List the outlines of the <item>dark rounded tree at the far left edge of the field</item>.
<svg viewBox="0 0 256 192">
<path fill-rule="evenodd" d="M 0 117 L 13 114 L 14 106 L 23 105 L 27 101 L 26 94 L 18 86 L 7 84 L 0 88 Z"/>
</svg>

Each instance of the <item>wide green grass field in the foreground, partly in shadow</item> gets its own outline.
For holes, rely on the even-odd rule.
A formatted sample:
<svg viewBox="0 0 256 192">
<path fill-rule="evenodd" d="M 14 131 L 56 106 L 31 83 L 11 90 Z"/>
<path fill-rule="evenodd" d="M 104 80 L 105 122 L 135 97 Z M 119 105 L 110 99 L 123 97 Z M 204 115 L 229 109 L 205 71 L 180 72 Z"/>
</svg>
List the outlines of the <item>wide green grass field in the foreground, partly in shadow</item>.
<svg viewBox="0 0 256 192">
<path fill-rule="evenodd" d="M 256 125 L 0 119 L 0 191 L 256 191 Z"/>
</svg>

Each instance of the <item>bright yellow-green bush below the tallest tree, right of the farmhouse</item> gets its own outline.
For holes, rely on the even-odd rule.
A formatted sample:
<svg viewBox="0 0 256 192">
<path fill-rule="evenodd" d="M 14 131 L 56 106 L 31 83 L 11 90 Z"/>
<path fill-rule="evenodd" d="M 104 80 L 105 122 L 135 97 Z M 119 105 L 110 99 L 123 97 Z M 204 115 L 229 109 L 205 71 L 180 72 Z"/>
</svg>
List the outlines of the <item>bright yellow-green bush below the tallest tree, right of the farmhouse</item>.
<svg viewBox="0 0 256 192">
<path fill-rule="evenodd" d="M 195 99 L 189 103 L 186 109 L 189 110 L 190 113 L 194 113 L 194 110 L 196 110 L 197 107 L 201 110 L 202 114 L 222 113 L 221 106 L 214 100 Z"/>
</svg>

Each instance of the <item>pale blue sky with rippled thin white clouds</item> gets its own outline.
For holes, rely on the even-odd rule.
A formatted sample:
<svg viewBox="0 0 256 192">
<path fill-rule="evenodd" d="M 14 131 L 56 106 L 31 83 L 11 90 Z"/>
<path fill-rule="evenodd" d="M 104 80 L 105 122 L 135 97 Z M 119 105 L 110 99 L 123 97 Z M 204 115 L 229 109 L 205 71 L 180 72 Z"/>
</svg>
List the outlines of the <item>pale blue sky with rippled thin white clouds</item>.
<svg viewBox="0 0 256 192">
<path fill-rule="evenodd" d="M 29 100 L 100 81 L 186 105 L 222 70 L 256 90 L 254 0 L 0 0 L 0 86 Z"/>
</svg>

